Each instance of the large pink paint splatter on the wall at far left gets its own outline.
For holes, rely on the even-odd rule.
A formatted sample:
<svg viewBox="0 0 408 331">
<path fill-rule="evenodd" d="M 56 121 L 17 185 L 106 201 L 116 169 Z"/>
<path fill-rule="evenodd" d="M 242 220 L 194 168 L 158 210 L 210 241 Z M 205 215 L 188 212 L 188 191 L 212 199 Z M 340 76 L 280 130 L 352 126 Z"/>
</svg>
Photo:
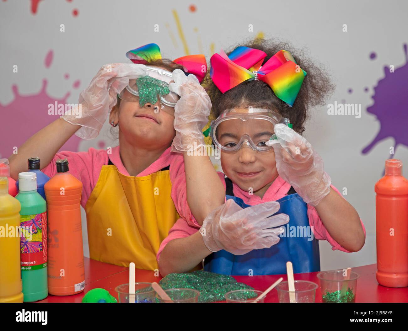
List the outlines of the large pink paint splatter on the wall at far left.
<svg viewBox="0 0 408 331">
<path fill-rule="evenodd" d="M 45 59 L 44 62 L 47 63 Z M 59 115 L 48 115 L 48 105 L 55 102 L 66 104 L 70 93 L 67 92 L 60 98 L 51 97 L 47 94 L 47 84 L 47 79 L 43 79 L 40 92 L 30 95 L 21 95 L 18 86 L 13 85 L 11 89 L 14 100 L 6 105 L 0 103 L 0 114 L 7 118 L 7 122 L 2 123 L 1 127 L 4 134 L 0 144 L 0 157 L 9 157 L 13 153 L 14 146 L 21 146 L 44 126 L 59 118 Z M 60 150 L 76 152 L 80 141 L 79 137 L 73 135 Z"/>
</svg>

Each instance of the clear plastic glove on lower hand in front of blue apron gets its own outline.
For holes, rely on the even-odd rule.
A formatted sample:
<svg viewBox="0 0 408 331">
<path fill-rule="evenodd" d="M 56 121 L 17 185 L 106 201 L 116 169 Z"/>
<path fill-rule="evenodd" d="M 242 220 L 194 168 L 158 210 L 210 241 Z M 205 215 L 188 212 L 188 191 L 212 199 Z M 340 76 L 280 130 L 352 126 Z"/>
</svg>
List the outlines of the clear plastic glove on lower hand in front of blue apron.
<svg viewBox="0 0 408 331">
<path fill-rule="evenodd" d="M 289 222 L 286 214 L 271 216 L 278 210 L 276 201 L 241 208 L 233 199 L 228 199 L 206 217 L 200 233 L 211 252 L 225 249 L 243 255 L 253 249 L 269 248 L 279 242 L 279 234 L 284 231 L 274 227 Z"/>
</svg>

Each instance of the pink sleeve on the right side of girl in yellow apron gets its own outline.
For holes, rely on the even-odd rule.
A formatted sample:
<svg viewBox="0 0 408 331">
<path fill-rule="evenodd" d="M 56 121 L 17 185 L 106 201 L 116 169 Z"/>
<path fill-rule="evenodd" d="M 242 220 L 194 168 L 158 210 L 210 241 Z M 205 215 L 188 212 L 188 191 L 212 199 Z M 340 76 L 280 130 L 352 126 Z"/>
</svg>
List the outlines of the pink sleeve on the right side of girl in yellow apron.
<svg viewBox="0 0 408 331">
<path fill-rule="evenodd" d="M 220 179 L 224 181 L 224 174 L 218 172 Z M 186 172 L 184 169 L 184 157 L 181 153 L 173 153 L 170 163 L 171 199 L 173 199 L 176 210 L 188 225 L 201 227 L 191 213 L 187 203 Z"/>
</svg>

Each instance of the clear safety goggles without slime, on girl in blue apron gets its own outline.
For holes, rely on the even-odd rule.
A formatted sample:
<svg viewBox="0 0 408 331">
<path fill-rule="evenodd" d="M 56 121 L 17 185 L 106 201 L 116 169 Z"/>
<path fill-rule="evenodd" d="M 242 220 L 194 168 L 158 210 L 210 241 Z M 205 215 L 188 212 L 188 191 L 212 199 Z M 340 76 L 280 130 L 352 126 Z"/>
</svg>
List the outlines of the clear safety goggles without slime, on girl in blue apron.
<svg viewBox="0 0 408 331">
<path fill-rule="evenodd" d="M 273 128 L 278 123 L 288 123 L 288 119 L 271 109 L 227 109 L 211 123 L 211 139 L 226 152 L 243 147 L 264 152 L 273 148 L 266 142 L 273 139 Z"/>
</svg>

